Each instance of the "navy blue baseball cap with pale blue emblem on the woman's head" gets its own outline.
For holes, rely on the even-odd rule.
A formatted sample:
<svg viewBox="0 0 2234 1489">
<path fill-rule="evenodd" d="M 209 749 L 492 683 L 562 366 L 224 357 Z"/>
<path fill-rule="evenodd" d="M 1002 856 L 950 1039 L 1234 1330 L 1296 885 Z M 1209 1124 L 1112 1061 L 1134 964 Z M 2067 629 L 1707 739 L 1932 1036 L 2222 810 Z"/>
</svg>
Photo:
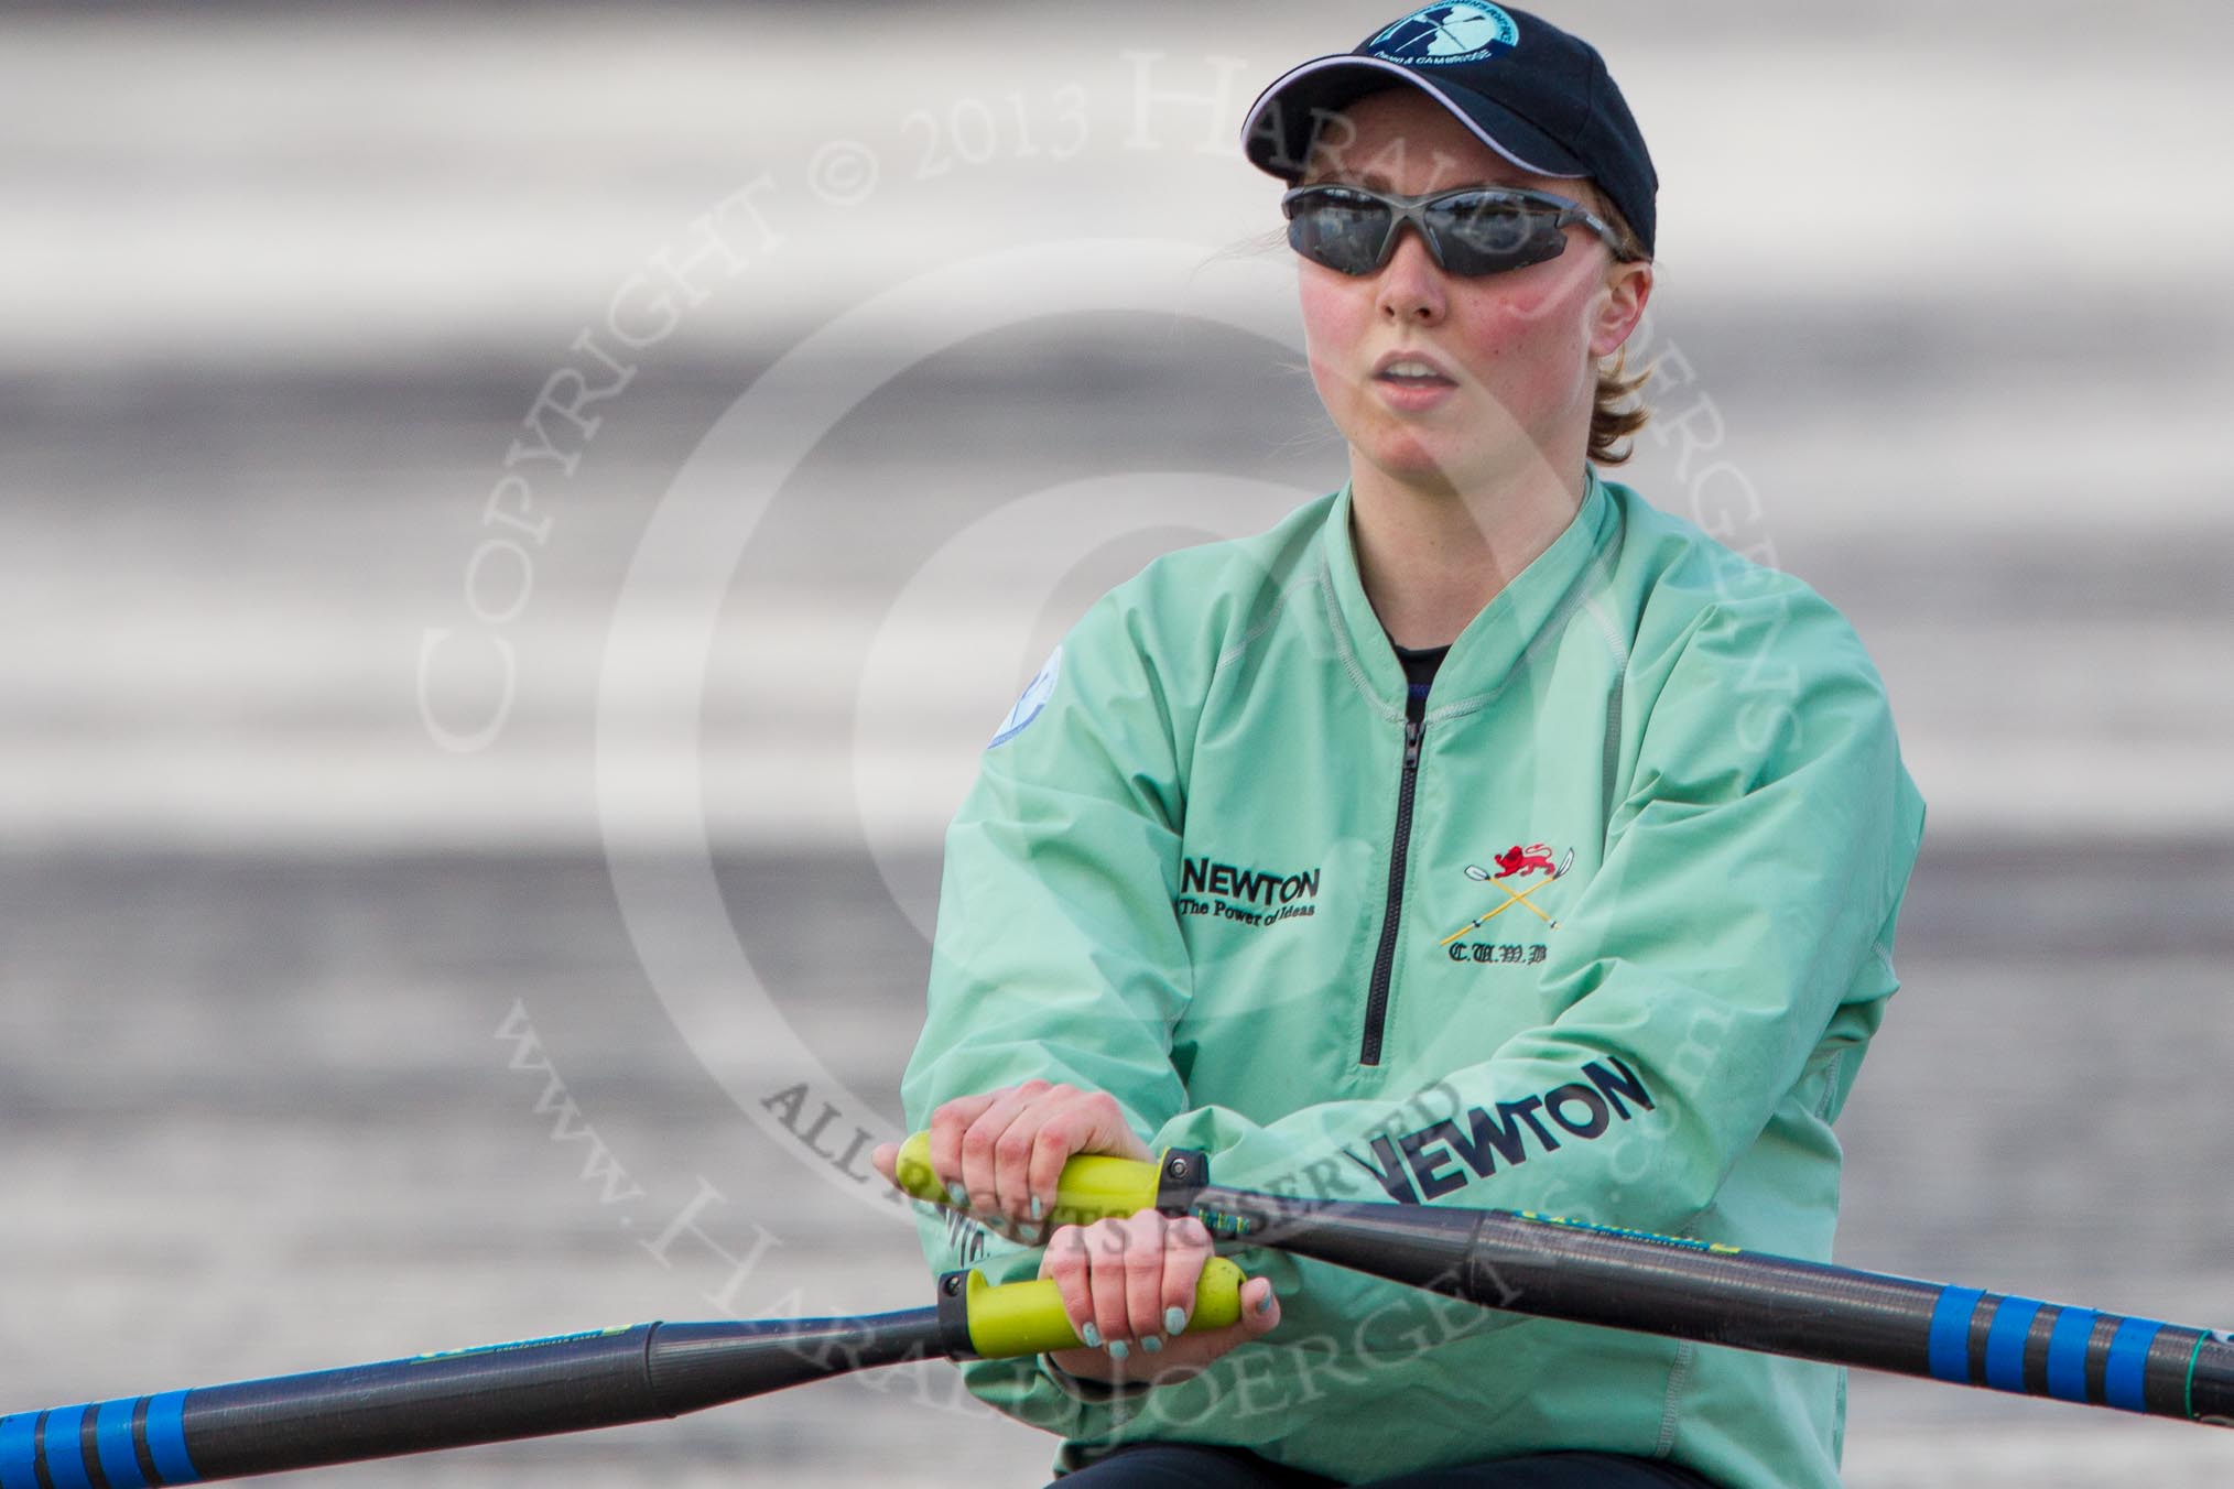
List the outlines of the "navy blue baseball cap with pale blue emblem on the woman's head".
<svg viewBox="0 0 2234 1489">
<path fill-rule="evenodd" d="M 1296 181 L 1327 114 L 1387 87 L 1421 89 L 1521 170 L 1588 176 L 1653 252 L 1660 176 L 1622 89 L 1591 42 L 1528 11 L 1425 4 L 1354 51 L 1305 63 L 1249 107 L 1242 150 Z"/>
</svg>

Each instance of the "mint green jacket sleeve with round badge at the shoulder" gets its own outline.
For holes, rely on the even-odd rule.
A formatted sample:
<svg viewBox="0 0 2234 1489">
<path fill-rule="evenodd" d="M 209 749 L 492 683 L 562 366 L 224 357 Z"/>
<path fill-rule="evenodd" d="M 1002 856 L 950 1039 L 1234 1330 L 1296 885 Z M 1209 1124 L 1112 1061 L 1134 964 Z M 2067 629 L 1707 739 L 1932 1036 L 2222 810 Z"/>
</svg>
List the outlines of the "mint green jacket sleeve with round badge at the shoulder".
<svg viewBox="0 0 2234 1489">
<path fill-rule="evenodd" d="M 1139 623 L 1117 596 L 1081 618 L 1041 672 L 1054 674 L 1043 708 L 1030 712 L 1028 690 L 947 830 L 925 1027 L 900 1085 L 911 1130 L 943 1101 L 1032 1076 L 1115 1096 L 1142 1136 L 1182 1109 L 1171 1029 L 1191 982 L 1171 900 L 1184 792 Z M 934 1270 L 1037 1275 L 1037 1250 L 981 1226 L 923 1214 L 918 1232 Z M 1032 1360 L 963 1375 L 1034 1426 L 1106 1426 L 1108 1406 Z"/>
</svg>

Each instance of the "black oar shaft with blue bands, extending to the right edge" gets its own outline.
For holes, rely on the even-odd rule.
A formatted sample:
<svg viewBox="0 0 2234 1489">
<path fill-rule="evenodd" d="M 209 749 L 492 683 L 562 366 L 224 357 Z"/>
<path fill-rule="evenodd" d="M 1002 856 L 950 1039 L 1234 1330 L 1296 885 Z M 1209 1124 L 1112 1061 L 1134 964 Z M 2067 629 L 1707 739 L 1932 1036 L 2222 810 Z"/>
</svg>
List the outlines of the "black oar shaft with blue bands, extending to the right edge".
<svg viewBox="0 0 2234 1489">
<path fill-rule="evenodd" d="M 1222 1237 L 1510 1313 L 2234 1426 L 2207 1328 L 1506 1210 L 1186 1199 Z"/>
</svg>

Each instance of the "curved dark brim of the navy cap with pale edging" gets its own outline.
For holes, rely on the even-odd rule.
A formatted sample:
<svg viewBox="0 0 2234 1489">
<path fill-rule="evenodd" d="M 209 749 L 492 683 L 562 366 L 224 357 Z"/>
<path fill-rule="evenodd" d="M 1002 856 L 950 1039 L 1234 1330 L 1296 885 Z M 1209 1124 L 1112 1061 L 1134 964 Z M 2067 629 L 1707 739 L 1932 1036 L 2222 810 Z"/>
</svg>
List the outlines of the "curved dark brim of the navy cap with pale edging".
<svg viewBox="0 0 2234 1489">
<path fill-rule="evenodd" d="M 1591 174 L 1571 150 L 1495 98 L 1430 78 L 1416 67 L 1354 54 L 1305 63 L 1258 94 L 1242 123 L 1242 152 L 1258 170 L 1296 181 L 1302 176 L 1320 114 L 1345 109 L 1365 94 L 1394 85 L 1428 94 L 1474 138 L 1526 172 L 1564 181 Z"/>
</svg>

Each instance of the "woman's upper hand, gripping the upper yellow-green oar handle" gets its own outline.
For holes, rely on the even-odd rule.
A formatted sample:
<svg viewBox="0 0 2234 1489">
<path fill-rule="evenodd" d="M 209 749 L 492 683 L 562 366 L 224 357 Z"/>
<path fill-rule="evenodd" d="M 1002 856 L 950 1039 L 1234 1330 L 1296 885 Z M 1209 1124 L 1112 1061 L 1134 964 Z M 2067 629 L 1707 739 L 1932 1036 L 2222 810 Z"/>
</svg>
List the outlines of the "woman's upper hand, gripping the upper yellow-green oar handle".
<svg viewBox="0 0 2234 1489">
<path fill-rule="evenodd" d="M 898 1147 L 869 1161 L 898 1183 Z M 1054 1212 L 1054 1181 L 1072 1154 L 1099 1152 L 1151 1163 L 1113 1096 L 1025 1080 L 983 1096 L 956 1096 L 932 1112 L 932 1172 L 958 1205 L 996 1230 L 1032 1239 Z M 1197 1268 L 1200 1270 L 1200 1268 Z M 1193 1286 L 1193 1284 L 1188 1284 Z"/>
</svg>

